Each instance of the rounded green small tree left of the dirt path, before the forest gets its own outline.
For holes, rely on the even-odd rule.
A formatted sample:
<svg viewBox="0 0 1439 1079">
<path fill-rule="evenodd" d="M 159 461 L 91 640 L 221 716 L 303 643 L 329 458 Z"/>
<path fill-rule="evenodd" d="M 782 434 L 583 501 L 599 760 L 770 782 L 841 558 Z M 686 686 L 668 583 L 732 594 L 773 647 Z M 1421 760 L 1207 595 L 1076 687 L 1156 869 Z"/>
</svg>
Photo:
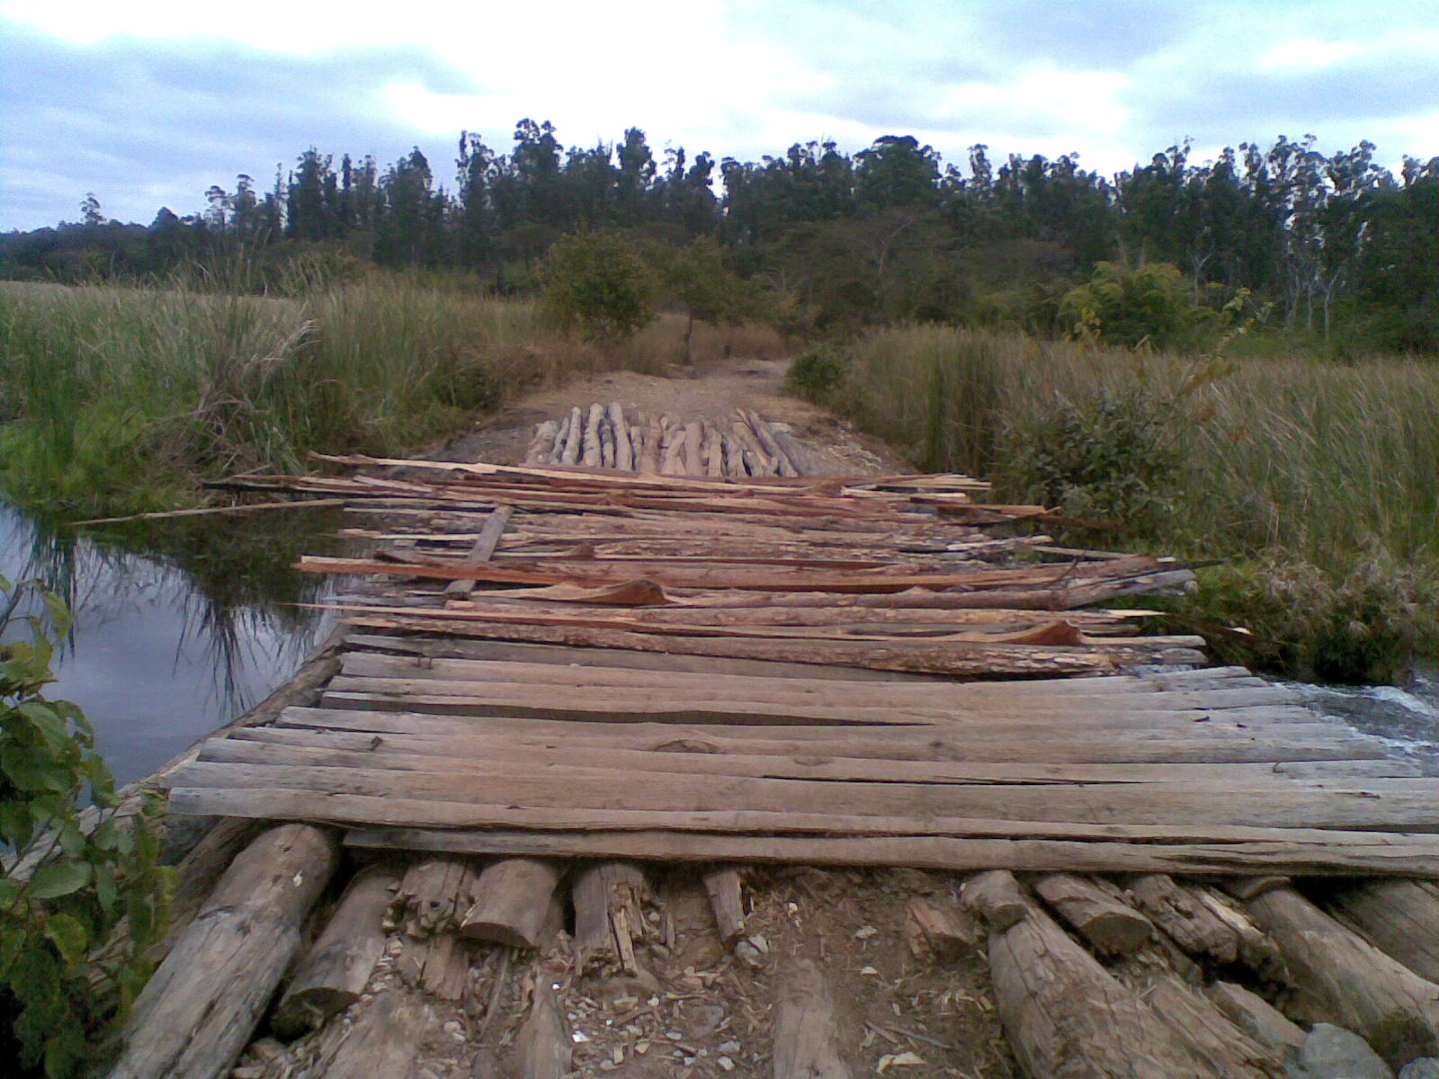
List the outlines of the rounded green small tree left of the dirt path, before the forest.
<svg viewBox="0 0 1439 1079">
<path fill-rule="evenodd" d="M 655 318 L 653 279 L 635 246 L 613 232 L 561 236 L 544 266 L 544 302 L 564 327 L 613 344 Z"/>
</svg>

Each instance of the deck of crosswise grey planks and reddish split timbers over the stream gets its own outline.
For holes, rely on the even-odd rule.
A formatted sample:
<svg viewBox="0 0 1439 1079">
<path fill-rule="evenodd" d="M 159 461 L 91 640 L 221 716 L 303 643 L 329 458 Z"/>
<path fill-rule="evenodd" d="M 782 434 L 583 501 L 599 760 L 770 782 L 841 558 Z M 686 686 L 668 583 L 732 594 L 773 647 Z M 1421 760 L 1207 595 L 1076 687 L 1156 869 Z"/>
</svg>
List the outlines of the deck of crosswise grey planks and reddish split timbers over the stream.
<svg viewBox="0 0 1439 1079">
<path fill-rule="evenodd" d="M 1181 567 L 993 564 L 1042 511 L 966 478 L 386 465 L 248 481 L 351 498 L 373 554 L 305 563 L 366 581 L 319 706 L 210 739 L 174 810 L 465 853 L 1439 875 L 1439 780 L 1095 606 Z"/>
</svg>

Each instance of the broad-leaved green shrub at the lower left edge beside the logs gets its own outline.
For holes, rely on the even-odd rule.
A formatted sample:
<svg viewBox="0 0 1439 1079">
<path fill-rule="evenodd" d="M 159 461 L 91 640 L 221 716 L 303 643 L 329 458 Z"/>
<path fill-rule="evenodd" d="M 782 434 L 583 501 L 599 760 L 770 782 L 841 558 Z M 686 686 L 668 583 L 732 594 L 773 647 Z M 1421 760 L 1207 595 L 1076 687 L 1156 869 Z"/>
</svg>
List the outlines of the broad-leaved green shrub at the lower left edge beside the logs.
<svg viewBox="0 0 1439 1079">
<path fill-rule="evenodd" d="M 4 577 L 0 630 L 26 593 L 39 593 L 63 637 L 65 604 Z M 53 643 L 37 614 L 24 620 L 30 640 L 0 645 L 0 843 L 12 852 L 0 870 L 0 1027 L 16 1043 L 0 1055 L 60 1079 L 105 1055 L 144 985 L 145 951 L 165 928 L 168 870 L 150 823 L 157 807 L 118 820 L 89 722 L 42 695 L 55 680 Z M 82 813 L 86 794 L 98 821 Z"/>
</svg>

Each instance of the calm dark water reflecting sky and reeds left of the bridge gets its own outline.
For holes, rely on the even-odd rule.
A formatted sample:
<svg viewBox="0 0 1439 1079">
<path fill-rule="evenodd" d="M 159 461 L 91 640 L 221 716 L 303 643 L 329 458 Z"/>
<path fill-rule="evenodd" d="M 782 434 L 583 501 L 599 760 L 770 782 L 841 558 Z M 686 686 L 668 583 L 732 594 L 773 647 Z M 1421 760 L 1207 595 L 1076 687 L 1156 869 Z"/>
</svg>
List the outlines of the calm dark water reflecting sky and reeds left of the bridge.
<svg viewBox="0 0 1439 1079">
<path fill-rule="evenodd" d="M 75 629 L 47 693 L 85 709 L 128 783 L 263 699 L 328 633 L 328 619 L 294 606 L 324 583 L 286 565 L 301 548 L 331 550 L 334 527 L 319 509 L 154 521 L 127 551 L 0 502 L 0 574 L 39 577 L 71 603 Z"/>
</svg>

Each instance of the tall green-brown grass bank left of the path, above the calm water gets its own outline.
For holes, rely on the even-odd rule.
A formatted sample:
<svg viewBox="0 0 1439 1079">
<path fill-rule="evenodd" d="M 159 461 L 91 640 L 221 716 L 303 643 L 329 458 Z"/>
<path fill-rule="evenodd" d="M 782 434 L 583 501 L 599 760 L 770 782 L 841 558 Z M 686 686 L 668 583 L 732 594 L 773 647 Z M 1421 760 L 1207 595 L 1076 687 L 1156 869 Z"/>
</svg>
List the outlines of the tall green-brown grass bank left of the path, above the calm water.
<svg viewBox="0 0 1439 1079">
<path fill-rule="evenodd" d="M 0 285 L 0 485 L 32 511 L 191 505 L 204 478 L 309 449 L 406 453 L 544 381 L 682 355 L 665 317 L 600 352 L 528 301 L 380 276 L 294 299 Z M 718 354 L 755 331 L 709 331 Z"/>
</svg>

